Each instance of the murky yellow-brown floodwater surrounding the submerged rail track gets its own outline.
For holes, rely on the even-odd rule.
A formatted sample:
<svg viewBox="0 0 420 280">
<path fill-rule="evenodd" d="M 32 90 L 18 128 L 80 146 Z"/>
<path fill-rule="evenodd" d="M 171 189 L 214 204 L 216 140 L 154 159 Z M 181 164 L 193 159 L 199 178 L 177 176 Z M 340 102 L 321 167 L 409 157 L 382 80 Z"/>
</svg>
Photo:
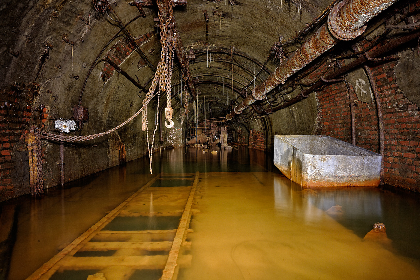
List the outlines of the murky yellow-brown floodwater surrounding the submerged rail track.
<svg viewBox="0 0 420 280">
<path fill-rule="evenodd" d="M 2 253 L 7 250 L 0 251 L 6 256 L 0 256 L 2 271 L 10 268 L 4 279 L 31 275 L 158 172 L 196 171 L 186 252 L 192 266 L 180 269 L 178 279 L 420 279 L 418 195 L 377 188 L 302 190 L 273 169 L 269 156 L 247 148 L 216 155 L 174 149 L 155 156 L 153 175 L 139 159 L 50 190 L 42 199 L 0 204 L 2 214 L 17 211 L 10 262 Z M 141 207 L 150 209 L 153 196 L 141 197 Z M 336 204 L 342 211 L 327 214 Z M 154 211 L 163 211 L 159 207 Z M 364 241 L 375 222 L 386 225 L 391 245 Z M 157 278 L 152 273 L 148 279 Z"/>
</svg>

